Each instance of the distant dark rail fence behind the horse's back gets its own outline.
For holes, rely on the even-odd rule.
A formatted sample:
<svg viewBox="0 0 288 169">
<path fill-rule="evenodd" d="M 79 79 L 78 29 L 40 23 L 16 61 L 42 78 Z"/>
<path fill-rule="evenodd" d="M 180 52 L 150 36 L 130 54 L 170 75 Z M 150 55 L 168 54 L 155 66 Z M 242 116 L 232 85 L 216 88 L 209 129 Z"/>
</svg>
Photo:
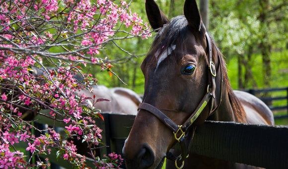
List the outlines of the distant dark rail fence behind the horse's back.
<svg viewBox="0 0 288 169">
<path fill-rule="evenodd" d="M 244 90 L 262 100 L 273 111 L 286 111 L 286 114 L 274 115 L 274 118 L 287 118 L 288 117 L 288 87 L 283 88 L 270 88 L 270 89 L 249 89 Z M 278 96 L 273 94 L 278 93 Z M 279 95 L 280 94 L 280 95 Z M 275 102 L 285 101 L 282 104 L 275 106 Z"/>
</svg>

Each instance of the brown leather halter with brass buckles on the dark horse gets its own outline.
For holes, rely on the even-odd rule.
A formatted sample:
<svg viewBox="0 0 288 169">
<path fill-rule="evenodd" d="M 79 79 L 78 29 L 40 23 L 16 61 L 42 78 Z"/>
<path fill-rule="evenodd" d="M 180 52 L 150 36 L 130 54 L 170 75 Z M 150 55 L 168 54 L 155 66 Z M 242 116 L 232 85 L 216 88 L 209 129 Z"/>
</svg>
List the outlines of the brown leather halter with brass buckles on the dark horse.
<svg viewBox="0 0 288 169">
<path fill-rule="evenodd" d="M 145 110 L 148 111 L 149 113 L 153 114 L 156 116 L 160 121 L 162 121 L 170 130 L 173 131 L 173 134 L 175 136 L 175 139 L 180 143 L 181 147 L 181 155 L 178 157 L 175 157 L 172 155 L 172 153 L 168 152 L 166 154 L 168 159 L 174 160 L 175 161 L 175 167 L 177 169 L 182 169 L 184 166 L 184 160 L 188 158 L 189 156 L 189 151 L 191 147 L 191 142 L 192 138 L 194 136 L 194 132 L 196 127 L 193 127 L 192 132 L 189 132 L 191 129 L 191 126 L 193 122 L 197 119 L 197 117 L 200 115 L 200 113 L 203 112 L 204 108 L 211 103 L 210 106 L 210 112 L 209 115 L 213 114 L 218 106 L 221 103 L 221 97 L 222 97 L 222 70 L 221 70 L 221 94 L 220 94 L 220 101 L 219 104 L 216 106 L 214 110 L 213 109 L 213 104 L 214 104 L 214 99 L 215 99 L 215 91 L 216 91 L 216 83 L 215 83 L 215 78 L 216 78 L 216 68 L 215 64 L 212 59 L 212 45 L 211 45 L 211 39 L 208 33 L 206 32 L 206 41 L 208 44 L 208 50 L 209 50 L 209 56 L 208 56 L 208 86 L 207 86 L 207 94 L 204 95 L 203 99 L 201 100 L 200 104 L 196 108 L 196 110 L 190 115 L 190 117 L 182 124 L 182 125 L 177 125 L 174 121 L 172 121 L 169 117 L 167 117 L 164 113 L 162 113 L 160 110 L 155 108 L 154 106 L 147 104 L 147 103 L 141 103 L 139 104 L 138 110 Z M 218 52 L 218 51 L 217 51 Z M 219 57 L 219 53 L 217 54 Z M 219 64 L 220 64 L 221 59 L 219 58 Z M 219 66 L 221 69 L 221 66 Z M 186 134 L 186 132 L 188 132 Z M 179 136 L 180 135 L 180 136 Z M 181 163 L 181 166 L 178 167 L 177 163 Z"/>
</svg>

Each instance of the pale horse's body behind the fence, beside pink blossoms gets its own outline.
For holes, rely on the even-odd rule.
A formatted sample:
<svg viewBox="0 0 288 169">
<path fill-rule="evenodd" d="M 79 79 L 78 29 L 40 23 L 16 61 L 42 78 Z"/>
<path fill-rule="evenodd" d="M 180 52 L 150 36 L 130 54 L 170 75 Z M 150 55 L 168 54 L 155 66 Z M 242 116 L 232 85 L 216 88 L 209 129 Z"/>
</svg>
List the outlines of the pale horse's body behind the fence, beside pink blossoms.
<svg viewBox="0 0 288 169">
<path fill-rule="evenodd" d="M 103 113 L 136 115 L 138 105 L 142 102 L 141 97 L 137 93 L 124 87 L 107 88 L 103 85 L 95 85 L 91 92 L 83 89 L 77 91 L 76 94 L 79 96 L 85 95 L 91 103 L 93 103 L 93 100 L 105 99 L 104 101 L 93 104 L 95 108 Z"/>
</svg>

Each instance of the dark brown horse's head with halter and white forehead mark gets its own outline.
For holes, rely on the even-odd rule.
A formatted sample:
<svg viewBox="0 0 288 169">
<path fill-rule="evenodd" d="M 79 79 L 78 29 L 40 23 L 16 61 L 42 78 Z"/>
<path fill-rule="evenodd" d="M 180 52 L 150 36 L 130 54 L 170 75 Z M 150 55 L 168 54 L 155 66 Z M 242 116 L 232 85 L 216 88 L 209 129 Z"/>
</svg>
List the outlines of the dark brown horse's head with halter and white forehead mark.
<svg viewBox="0 0 288 169">
<path fill-rule="evenodd" d="M 216 108 L 214 102 L 221 100 L 215 97 L 222 88 L 216 90 L 215 84 L 222 78 L 216 77 L 220 71 L 215 66 L 219 65 L 218 51 L 212 47 L 196 1 L 186 0 L 184 16 L 171 21 L 154 0 L 146 0 L 145 8 L 158 33 L 141 65 L 143 103 L 123 148 L 128 169 L 161 168 L 177 139 L 185 144 L 183 133 L 203 123 Z M 184 160 L 181 157 L 180 163 Z"/>
</svg>

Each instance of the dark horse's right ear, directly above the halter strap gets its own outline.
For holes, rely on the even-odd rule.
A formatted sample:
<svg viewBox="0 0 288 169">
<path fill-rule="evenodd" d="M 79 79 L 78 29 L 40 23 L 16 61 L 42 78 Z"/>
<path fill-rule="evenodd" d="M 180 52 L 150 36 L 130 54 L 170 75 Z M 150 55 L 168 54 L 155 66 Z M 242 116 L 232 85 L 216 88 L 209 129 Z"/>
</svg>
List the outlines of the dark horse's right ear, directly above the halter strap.
<svg viewBox="0 0 288 169">
<path fill-rule="evenodd" d="M 190 29 L 205 33 L 206 29 L 202 24 L 200 12 L 197 7 L 196 0 L 185 0 L 184 15 L 188 21 Z"/>
</svg>

